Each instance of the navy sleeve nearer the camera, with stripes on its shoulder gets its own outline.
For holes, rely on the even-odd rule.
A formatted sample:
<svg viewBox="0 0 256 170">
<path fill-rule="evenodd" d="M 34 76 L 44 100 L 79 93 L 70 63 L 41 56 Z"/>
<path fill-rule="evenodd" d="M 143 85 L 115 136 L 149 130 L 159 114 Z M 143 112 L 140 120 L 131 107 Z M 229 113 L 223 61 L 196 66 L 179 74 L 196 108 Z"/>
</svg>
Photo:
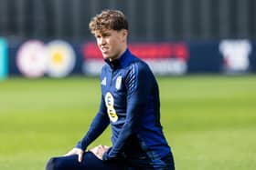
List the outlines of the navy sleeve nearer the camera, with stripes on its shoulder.
<svg viewBox="0 0 256 170">
<path fill-rule="evenodd" d="M 123 145 L 130 135 L 138 132 L 144 109 L 149 96 L 150 78 L 148 69 L 140 64 L 133 64 L 128 77 L 127 87 L 127 116 L 123 129 L 112 148 L 103 155 L 103 161 L 111 161 L 123 157 Z"/>
</svg>

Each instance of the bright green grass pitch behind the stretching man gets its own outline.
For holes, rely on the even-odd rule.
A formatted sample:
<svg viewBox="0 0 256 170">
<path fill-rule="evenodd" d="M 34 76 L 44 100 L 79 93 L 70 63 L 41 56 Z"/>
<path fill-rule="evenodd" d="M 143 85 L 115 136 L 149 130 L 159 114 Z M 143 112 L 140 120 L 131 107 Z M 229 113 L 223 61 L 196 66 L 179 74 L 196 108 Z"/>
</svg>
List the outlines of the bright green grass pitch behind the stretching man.
<svg viewBox="0 0 256 170">
<path fill-rule="evenodd" d="M 255 169 L 256 77 L 157 79 L 177 170 Z M 0 169 L 43 170 L 64 155 L 88 130 L 100 95 L 98 78 L 0 82 Z M 93 145 L 111 145 L 110 135 Z"/>
</svg>

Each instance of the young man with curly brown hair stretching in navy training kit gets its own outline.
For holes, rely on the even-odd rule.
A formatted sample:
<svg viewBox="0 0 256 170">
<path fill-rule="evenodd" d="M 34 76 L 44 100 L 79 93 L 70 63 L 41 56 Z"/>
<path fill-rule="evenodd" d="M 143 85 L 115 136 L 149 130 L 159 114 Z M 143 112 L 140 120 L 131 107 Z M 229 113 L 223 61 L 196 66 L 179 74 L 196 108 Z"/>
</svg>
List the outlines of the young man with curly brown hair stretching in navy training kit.
<svg viewBox="0 0 256 170">
<path fill-rule="evenodd" d="M 91 19 L 91 33 L 106 65 L 101 70 L 101 105 L 89 131 L 47 170 L 174 170 L 160 124 L 158 85 L 148 65 L 127 48 L 128 23 L 122 12 L 105 10 Z M 108 125 L 112 147 L 85 152 Z"/>
</svg>

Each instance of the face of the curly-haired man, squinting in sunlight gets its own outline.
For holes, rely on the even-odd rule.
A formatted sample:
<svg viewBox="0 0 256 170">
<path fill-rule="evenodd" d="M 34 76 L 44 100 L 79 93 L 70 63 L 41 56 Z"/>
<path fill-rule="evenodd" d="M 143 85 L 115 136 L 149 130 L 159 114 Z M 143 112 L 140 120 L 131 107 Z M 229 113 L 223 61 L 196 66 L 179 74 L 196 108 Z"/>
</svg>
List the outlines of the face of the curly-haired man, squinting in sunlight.
<svg viewBox="0 0 256 170">
<path fill-rule="evenodd" d="M 108 58 L 113 60 L 123 55 L 123 52 L 127 46 L 127 30 L 104 30 L 101 32 L 96 31 L 94 35 L 104 59 Z"/>
</svg>

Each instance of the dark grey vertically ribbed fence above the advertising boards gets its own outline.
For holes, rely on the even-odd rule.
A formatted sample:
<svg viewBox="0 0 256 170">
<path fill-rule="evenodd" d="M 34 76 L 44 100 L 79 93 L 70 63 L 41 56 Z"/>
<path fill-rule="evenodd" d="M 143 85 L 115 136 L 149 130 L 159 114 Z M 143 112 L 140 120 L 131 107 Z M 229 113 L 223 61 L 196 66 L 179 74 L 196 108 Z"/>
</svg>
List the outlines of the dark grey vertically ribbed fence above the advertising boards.
<svg viewBox="0 0 256 170">
<path fill-rule="evenodd" d="M 0 35 L 90 40 L 102 9 L 123 10 L 132 41 L 255 38 L 254 0 L 0 0 Z"/>
</svg>

